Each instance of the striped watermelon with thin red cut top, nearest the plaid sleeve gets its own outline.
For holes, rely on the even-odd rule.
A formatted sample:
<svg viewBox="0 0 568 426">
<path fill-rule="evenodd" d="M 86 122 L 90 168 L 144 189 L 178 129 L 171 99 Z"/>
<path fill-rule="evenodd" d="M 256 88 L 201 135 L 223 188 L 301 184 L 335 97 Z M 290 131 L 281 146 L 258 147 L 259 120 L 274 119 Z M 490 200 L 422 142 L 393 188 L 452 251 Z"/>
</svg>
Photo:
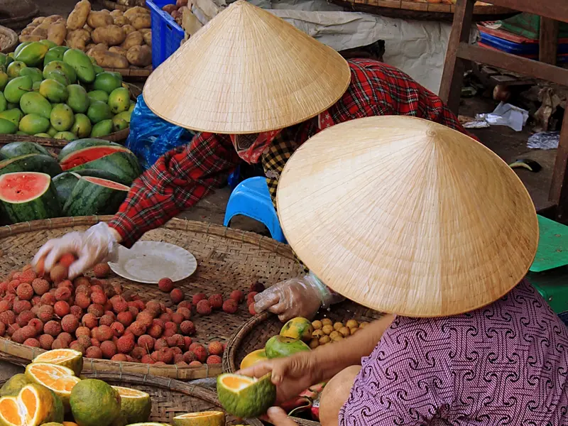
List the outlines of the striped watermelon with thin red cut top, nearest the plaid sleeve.
<svg viewBox="0 0 568 426">
<path fill-rule="evenodd" d="M 129 190 L 112 180 L 83 176 L 73 188 L 63 212 L 65 216 L 114 214 Z"/>
</svg>

